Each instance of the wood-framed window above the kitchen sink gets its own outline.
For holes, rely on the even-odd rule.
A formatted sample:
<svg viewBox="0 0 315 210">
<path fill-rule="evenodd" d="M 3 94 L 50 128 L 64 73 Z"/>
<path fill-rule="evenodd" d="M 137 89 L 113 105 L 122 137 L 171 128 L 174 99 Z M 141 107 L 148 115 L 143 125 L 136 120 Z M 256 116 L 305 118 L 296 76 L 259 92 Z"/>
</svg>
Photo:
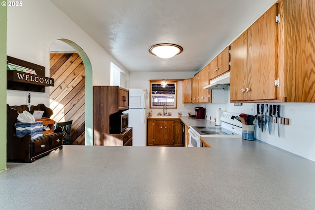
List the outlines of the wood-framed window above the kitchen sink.
<svg viewBox="0 0 315 210">
<path fill-rule="evenodd" d="M 164 104 L 177 108 L 177 81 L 150 80 L 150 108 L 163 108 Z"/>
</svg>

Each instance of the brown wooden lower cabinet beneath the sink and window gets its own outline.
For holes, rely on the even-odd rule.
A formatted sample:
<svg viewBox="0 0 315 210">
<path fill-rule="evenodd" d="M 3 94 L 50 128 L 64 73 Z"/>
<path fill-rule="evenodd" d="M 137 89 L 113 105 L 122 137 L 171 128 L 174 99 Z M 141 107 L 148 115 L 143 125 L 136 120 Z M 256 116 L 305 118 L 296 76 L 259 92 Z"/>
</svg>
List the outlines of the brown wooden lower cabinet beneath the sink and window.
<svg viewBox="0 0 315 210">
<path fill-rule="evenodd" d="M 148 120 L 148 146 L 183 146 L 181 120 Z"/>
</svg>

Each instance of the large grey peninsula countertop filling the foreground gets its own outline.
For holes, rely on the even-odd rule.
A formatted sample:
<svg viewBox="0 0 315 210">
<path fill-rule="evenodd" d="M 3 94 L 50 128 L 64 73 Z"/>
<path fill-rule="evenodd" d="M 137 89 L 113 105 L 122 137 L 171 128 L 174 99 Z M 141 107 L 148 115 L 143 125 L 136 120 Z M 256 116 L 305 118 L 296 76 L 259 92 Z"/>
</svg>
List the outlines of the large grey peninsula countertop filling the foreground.
<svg viewBox="0 0 315 210">
<path fill-rule="evenodd" d="M 1 209 L 315 209 L 315 162 L 260 141 L 63 146 L 0 173 Z"/>
</svg>

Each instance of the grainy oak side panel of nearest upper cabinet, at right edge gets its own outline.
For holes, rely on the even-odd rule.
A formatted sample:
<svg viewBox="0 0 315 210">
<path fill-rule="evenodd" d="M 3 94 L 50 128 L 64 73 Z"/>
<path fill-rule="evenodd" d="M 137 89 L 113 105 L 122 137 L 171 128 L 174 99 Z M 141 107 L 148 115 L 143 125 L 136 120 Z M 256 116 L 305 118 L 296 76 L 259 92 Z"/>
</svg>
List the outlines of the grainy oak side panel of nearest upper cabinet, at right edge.
<svg viewBox="0 0 315 210">
<path fill-rule="evenodd" d="M 278 98 L 315 102 L 315 0 L 279 2 Z"/>
</svg>

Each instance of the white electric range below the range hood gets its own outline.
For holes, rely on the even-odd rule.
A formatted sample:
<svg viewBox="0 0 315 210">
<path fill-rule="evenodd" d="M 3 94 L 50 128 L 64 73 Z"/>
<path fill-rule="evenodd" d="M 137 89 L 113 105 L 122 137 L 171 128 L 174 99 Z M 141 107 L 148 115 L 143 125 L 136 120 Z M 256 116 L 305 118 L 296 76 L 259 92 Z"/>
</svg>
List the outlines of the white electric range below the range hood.
<svg viewBox="0 0 315 210">
<path fill-rule="evenodd" d="M 223 112 L 221 126 L 189 126 L 189 147 L 200 147 L 200 137 L 242 138 L 242 122 L 237 113 Z"/>
</svg>

